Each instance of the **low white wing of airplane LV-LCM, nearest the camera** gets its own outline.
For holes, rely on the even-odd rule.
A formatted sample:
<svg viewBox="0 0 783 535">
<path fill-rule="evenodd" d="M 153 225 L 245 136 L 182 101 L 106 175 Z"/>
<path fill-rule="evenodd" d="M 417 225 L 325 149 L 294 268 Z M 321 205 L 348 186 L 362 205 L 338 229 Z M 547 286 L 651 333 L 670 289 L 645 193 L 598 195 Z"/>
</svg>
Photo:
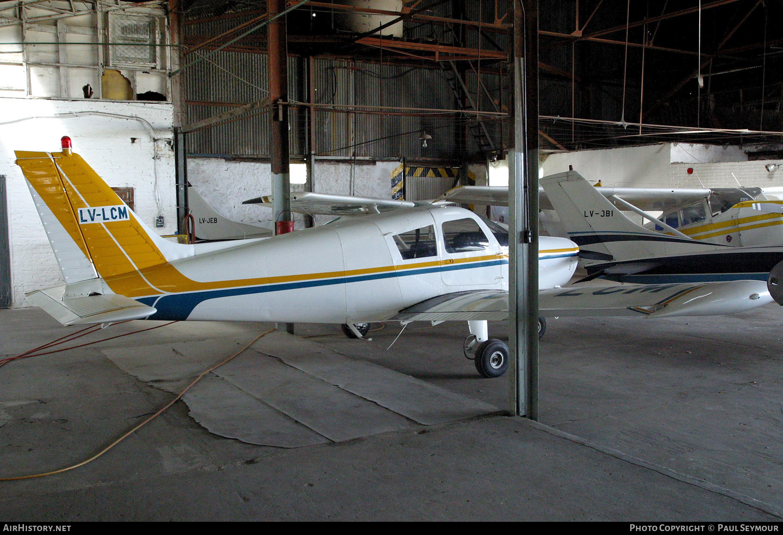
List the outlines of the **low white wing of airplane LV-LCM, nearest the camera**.
<svg viewBox="0 0 783 535">
<path fill-rule="evenodd" d="M 748 311 L 771 303 L 763 281 L 638 284 L 554 288 L 539 291 L 539 315 L 550 316 L 711 316 Z M 508 318 L 508 293 L 471 290 L 433 297 L 391 320 L 499 321 Z"/>
</svg>

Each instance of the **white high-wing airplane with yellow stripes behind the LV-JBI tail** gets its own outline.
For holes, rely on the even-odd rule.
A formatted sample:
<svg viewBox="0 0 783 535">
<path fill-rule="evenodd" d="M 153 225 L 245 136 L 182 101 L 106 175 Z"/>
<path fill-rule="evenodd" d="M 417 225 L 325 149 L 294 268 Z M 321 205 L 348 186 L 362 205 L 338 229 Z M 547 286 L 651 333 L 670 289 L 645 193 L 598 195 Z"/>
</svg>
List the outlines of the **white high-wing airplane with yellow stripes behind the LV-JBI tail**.
<svg viewBox="0 0 783 535">
<path fill-rule="evenodd" d="M 680 238 L 731 246 L 783 245 L 783 188 L 615 188 L 597 186 L 615 208 L 633 211 L 648 221 L 645 228 Z M 508 189 L 457 186 L 438 200 L 507 206 Z M 543 188 L 541 210 L 553 210 Z M 557 210 L 555 210 L 557 211 Z M 661 211 L 660 216 L 650 211 Z M 561 221 L 544 214 L 541 224 L 551 235 L 565 237 Z"/>
</svg>

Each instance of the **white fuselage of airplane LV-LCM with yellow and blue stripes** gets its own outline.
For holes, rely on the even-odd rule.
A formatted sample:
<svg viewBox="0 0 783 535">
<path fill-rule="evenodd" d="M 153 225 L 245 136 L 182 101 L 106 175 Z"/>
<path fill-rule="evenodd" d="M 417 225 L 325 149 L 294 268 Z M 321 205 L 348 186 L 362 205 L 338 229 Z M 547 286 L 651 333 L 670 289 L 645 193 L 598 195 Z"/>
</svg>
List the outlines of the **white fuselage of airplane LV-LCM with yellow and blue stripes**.
<svg viewBox="0 0 783 535">
<path fill-rule="evenodd" d="M 446 293 L 507 290 L 508 248 L 500 241 L 468 210 L 420 206 L 207 253 L 197 246 L 193 257 L 150 268 L 138 288 L 128 287 L 128 277 L 106 283 L 155 307 L 150 319 L 382 321 Z M 542 237 L 539 251 L 539 288 L 565 285 L 576 244 Z M 154 280 L 167 285 L 148 283 Z"/>
</svg>

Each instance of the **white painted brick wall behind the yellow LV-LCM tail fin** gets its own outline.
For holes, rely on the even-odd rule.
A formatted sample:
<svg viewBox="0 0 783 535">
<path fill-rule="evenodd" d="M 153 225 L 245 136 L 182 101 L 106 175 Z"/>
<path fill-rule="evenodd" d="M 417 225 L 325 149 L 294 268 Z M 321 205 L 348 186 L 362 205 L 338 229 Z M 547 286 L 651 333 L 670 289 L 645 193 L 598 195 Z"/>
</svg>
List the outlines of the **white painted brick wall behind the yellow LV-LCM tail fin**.
<svg viewBox="0 0 783 535">
<path fill-rule="evenodd" d="M 52 117 L 61 113 L 101 112 L 141 117 Z M 37 117 L 37 118 L 36 118 Z M 44 118 L 48 117 L 48 118 Z M 49 240 L 35 210 L 14 150 L 59 151 L 60 138 L 68 135 L 74 152 L 113 187 L 135 189 L 136 212 L 154 228 L 158 215 L 155 171 L 161 214 L 166 226 L 161 235 L 176 232 L 174 152 L 171 139 L 173 109 L 166 103 L 66 101 L 0 98 L 0 174 L 7 176 L 13 307 L 29 306 L 24 294 L 63 282 Z M 19 122 L 8 124 L 10 121 Z M 132 143 L 131 138 L 136 138 Z M 158 159 L 154 159 L 157 145 Z"/>
</svg>

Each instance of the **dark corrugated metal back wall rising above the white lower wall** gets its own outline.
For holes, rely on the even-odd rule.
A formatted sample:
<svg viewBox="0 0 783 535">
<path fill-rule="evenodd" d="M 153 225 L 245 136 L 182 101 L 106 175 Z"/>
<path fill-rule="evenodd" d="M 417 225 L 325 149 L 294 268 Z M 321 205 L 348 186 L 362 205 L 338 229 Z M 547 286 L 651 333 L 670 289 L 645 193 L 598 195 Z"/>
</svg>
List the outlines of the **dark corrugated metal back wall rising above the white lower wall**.
<svg viewBox="0 0 783 535">
<path fill-rule="evenodd" d="M 466 2 L 467 19 L 492 23 L 496 12 L 507 10 L 508 0 L 481 0 Z M 435 16 L 453 16 L 452 2 L 436 5 L 426 13 Z M 204 16 L 206 13 L 202 13 Z M 192 41 L 204 41 L 210 36 L 222 34 L 240 23 L 259 16 L 260 12 L 235 16 L 230 19 L 204 20 L 184 23 L 183 32 Z M 418 21 L 406 22 L 406 40 L 453 43 L 455 35 L 448 24 Z M 493 40 L 505 46 L 506 35 L 493 32 Z M 257 38 L 264 41 L 264 36 Z M 466 31 L 467 47 L 494 49 L 478 31 Z M 206 55 L 207 49 L 194 52 L 188 61 Z M 305 102 L 308 99 L 307 58 L 288 59 L 290 99 Z M 420 109 L 458 109 L 449 81 L 436 63 L 431 69 L 410 68 L 377 63 L 359 63 L 337 59 L 313 59 L 313 85 L 316 103 L 335 106 L 395 106 Z M 193 123 L 242 105 L 263 99 L 266 95 L 267 61 L 265 54 L 255 52 L 217 52 L 189 67 L 182 74 L 186 100 L 186 123 Z M 475 75 L 468 75 L 468 87 L 477 88 Z M 499 91 L 506 80 L 496 75 L 482 76 L 490 92 Z M 479 109 L 494 111 L 493 102 L 482 94 L 478 96 Z M 205 102 L 214 102 L 207 105 Z M 403 112 L 404 113 L 404 112 Z M 467 117 L 435 113 L 407 114 L 394 110 L 376 110 L 374 113 L 353 113 L 352 110 L 316 109 L 313 114 L 315 147 L 317 156 L 348 158 L 352 156 L 373 159 L 437 158 L 462 160 L 466 154 L 478 153 L 478 145 L 467 135 L 467 148 L 460 147 L 460 135 L 465 131 Z M 305 109 L 292 109 L 290 120 L 291 155 L 309 153 L 306 132 L 309 113 Z M 187 149 L 191 154 L 269 156 L 269 119 L 266 113 L 242 118 L 218 127 L 207 128 L 187 136 Z M 489 120 L 490 135 L 503 145 L 503 131 L 499 120 Z M 426 132 L 427 147 L 422 147 L 422 135 Z"/>
</svg>

